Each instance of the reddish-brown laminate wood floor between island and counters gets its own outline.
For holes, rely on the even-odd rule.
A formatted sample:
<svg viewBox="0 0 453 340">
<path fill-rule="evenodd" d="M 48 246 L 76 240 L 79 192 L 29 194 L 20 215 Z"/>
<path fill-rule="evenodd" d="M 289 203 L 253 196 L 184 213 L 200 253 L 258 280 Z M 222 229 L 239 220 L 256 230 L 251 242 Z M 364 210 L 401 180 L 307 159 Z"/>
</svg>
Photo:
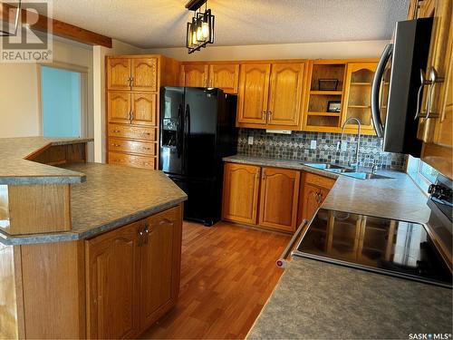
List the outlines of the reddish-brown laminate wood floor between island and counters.
<svg viewBox="0 0 453 340">
<path fill-rule="evenodd" d="M 178 304 L 145 339 L 243 339 L 283 270 L 290 237 L 226 222 L 184 222 Z"/>
</svg>

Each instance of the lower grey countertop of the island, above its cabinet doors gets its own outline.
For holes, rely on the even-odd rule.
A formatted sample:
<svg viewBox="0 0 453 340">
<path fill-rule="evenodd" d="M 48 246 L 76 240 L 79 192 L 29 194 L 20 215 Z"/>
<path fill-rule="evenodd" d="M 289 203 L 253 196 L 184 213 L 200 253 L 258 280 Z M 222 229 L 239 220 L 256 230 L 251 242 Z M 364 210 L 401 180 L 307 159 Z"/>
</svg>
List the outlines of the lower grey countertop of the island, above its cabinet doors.
<svg viewBox="0 0 453 340">
<path fill-rule="evenodd" d="M 71 187 L 72 230 L 25 236 L 9 236 L 0 231 L 1 243 L 17 245 L 91 238 L 187 199 L 184 191 L 159 170 L 101 163 L 65 165 L 62 170 L 82 173 L 87 179 Z"/>
</svg>

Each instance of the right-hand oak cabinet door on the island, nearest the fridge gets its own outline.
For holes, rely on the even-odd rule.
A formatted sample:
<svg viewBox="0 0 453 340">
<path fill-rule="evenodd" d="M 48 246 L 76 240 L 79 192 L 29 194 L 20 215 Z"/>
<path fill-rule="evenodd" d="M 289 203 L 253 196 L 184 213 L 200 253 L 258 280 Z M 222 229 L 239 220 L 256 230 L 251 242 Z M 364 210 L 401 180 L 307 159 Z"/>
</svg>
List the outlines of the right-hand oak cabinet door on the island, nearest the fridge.
<svg viewBox="0 0 453 340">
<path fill-rule="evenodd" d="M 182 210 L 178 206 L 145 220 L 141 248 L 140 329 L 145 330 L 178 297 Z"/>
</svg>

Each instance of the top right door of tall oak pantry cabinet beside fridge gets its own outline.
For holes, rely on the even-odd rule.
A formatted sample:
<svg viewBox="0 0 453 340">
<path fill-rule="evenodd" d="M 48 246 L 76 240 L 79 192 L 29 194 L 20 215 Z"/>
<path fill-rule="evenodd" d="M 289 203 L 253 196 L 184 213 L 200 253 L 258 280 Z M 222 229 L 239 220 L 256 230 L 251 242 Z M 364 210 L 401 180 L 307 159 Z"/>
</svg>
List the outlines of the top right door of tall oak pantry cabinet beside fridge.
<svg viewBox="0 0 453 340">
<path fill-rule="evenodd" d="M 132 90 L 158 92 L 158 58 L 131 60 Z"/>
</svg>

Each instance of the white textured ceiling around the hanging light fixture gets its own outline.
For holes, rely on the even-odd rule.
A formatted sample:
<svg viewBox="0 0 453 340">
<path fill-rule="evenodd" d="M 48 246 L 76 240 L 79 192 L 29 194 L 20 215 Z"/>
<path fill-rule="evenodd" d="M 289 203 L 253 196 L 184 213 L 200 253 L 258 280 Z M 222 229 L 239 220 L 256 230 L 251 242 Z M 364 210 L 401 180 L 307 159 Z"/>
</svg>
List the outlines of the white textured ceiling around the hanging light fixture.
<svg viewBox="0 0 453 340">
<path fill-rule="evenodd" d="M 53 17 L 143 48 L 181 47 L 188 0 L 53 0 Z M 208 0 L 216 44 L 390 39 L 409 0 Z"/>
</svg>

